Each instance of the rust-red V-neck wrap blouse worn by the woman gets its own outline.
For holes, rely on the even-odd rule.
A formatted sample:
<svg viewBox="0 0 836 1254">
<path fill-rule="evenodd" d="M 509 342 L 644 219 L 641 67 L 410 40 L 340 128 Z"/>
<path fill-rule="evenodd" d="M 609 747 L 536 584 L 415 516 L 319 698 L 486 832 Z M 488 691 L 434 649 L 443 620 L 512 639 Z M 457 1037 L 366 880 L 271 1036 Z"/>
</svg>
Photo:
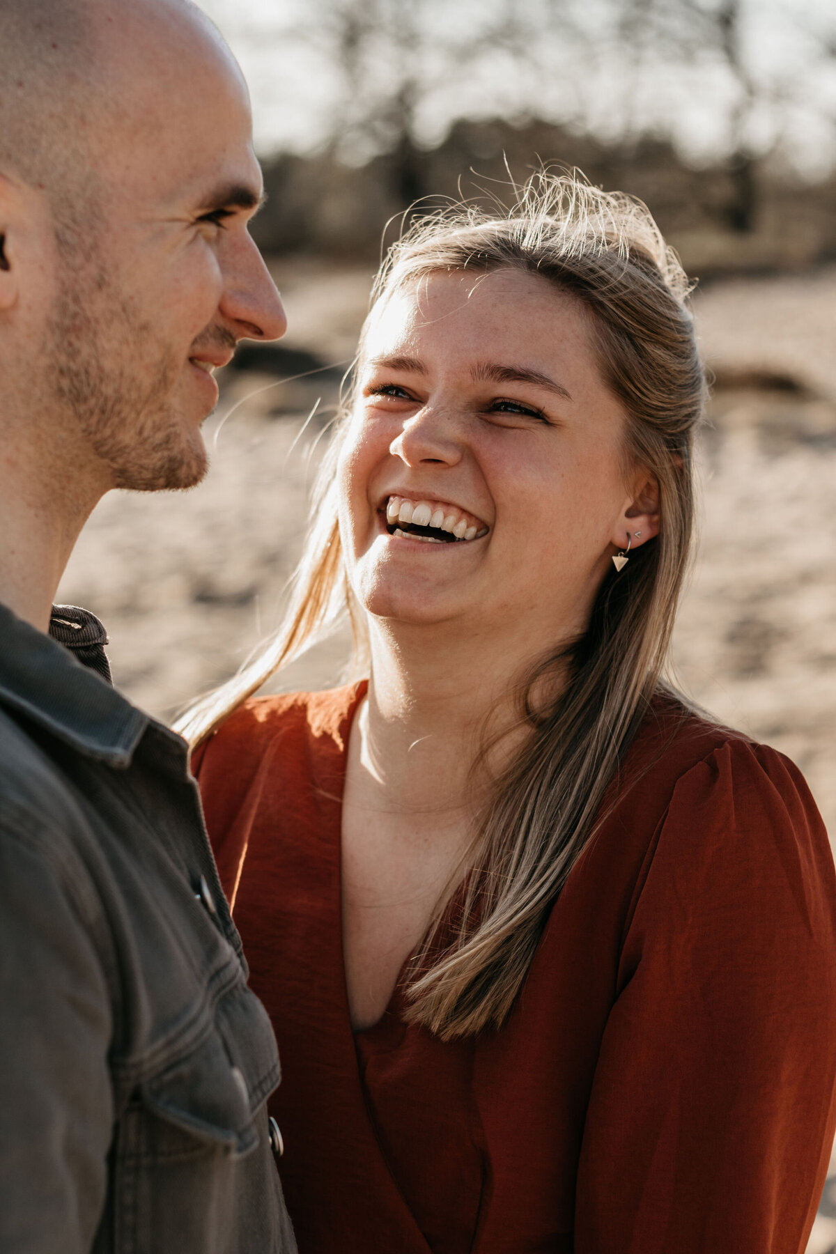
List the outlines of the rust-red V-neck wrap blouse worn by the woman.
<svg viewBox="0 0 836 1254">
<path fill-rule="evenodd" d="M 301 1254 L 800 1254 L 836 1124 L 836 884 L 796 767 L 659 706 L 504 1028 L 445 1045 L 396 992 L 352 1035 L 362 692 L 248 701 L 194 757 L 278 1037 Z"/>
</svg>

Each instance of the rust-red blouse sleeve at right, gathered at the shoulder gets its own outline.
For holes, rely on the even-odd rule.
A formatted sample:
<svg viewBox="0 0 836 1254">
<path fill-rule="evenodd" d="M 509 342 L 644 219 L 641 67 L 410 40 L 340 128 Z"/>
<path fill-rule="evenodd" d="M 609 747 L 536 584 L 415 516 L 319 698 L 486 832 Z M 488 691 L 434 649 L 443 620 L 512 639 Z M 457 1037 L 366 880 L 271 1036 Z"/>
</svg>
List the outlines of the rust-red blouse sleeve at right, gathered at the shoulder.
<svg viewBox="0 0 836 1254">
<path fill-rule="evenodd" d="M 801 1254 L 836 1124 L 827 835 L 796 767 L 746 741 L 682 776 L 657 835 L 588 1107 L 575 1254 Z"/>
</svg>

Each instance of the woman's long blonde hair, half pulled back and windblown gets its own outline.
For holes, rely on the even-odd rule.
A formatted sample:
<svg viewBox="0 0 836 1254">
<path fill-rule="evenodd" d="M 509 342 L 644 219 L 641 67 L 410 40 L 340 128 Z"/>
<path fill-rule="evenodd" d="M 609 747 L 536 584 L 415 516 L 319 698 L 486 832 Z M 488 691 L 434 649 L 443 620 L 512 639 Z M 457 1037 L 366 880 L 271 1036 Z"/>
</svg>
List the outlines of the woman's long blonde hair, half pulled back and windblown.
<svg viewBox="0 0 836 1254">
<path fill-rule="evenodd" d="M 658 480 L 661 530 L 623 574 L 607 574 L 583 637 L 536 660 L 523 686 L 529 735 L 480 809 L 454 938 L 439 948 L 436 918 L 410 986 L 410 1018 L 445 1040 L 504 1022 L 605 790 L 663 686 L 692 543 L 693 434 L 704 401 L 678 260 L 642 203 L 574 172 L 534 176 L 510 211 L 454 204 L 417 221 L 390 250 L 372 303 L 434 272 L 501 268 L 540 275 L 593 314 L 604 379 L 627 419 L 625 455 Z M 346 613 L 362 657 L 367 633 L 337 527 L 338 451 L 340 429 L 320 473 L 286 619 L 259 657 L 182 720 L 193 742 Z M 550 675 L 562 682 L 549 688 Z M 535 691 L 555 695 L 535 709 Z"/>
</svg>

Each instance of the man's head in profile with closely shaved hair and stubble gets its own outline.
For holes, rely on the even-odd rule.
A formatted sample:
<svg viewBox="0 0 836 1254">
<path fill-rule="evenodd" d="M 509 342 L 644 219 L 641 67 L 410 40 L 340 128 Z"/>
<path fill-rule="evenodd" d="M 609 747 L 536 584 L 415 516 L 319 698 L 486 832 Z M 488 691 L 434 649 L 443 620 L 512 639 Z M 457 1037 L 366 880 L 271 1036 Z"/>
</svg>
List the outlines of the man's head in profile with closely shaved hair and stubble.
<svg viewBox="0 0 836 1254">
<path fill-rule="evenodd" d="M 0 416 L 55 473 L 202 478 L 209 370 L 285 331 L 261 194 L 241 71 L 189 0 L 0 0 Z"/>
</svg>

